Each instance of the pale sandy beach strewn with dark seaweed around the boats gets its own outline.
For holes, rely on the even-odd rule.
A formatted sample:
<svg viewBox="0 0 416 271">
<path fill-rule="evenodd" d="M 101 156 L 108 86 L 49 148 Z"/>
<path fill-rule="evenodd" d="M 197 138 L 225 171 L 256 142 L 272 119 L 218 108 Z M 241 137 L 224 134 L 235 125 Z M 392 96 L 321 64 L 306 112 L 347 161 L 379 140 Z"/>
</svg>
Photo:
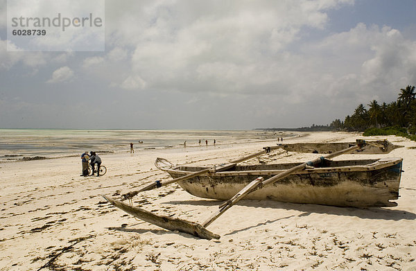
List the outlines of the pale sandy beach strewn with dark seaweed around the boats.
<svg viewBox="0 0 416 271">
<path fill-rule="evenodd" d="M 285 142 L 357 138 L 363 137 L 316 132 Z M 211 241 L 136 220 L 101 194 L 119 199 L 144 184 L 170 180 L 155 167 L 157 157 L 175 164 L 214 165 L 275 146 L 277 140 L 103 154 L 107 174 L 102 177 L 80 176 L 79 157 L 0 163 L 0 270 L 416 270 L 416 142 L 394 136 L 365 139 L 405 146 L 376 155 L 404 159 L 397 207 L 241 200 L 209 225 L 221 236 Z M 315 157 L 276 150 L 246 163 Z M 141 193 L 133 203 L 202 222 L 220 202 L 196 198 L 171 184 Z"/>
</svg>

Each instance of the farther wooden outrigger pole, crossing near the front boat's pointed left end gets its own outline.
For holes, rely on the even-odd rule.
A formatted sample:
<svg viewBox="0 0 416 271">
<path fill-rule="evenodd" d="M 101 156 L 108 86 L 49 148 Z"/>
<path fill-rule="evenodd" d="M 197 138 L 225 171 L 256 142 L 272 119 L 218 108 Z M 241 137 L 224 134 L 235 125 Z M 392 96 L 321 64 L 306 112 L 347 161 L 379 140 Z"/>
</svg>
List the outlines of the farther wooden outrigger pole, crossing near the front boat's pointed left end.
<svg viewBox="0 0 416 271">
<path fill-rule="evenodd" d="M 266 147 L 266 148 L 263 148 L 264 150 L 261 150 L 259 152 L 253 153 L 252 155 L 248 155 L 248 156 L 245 156 L 245 157 L 242 157 L 242 158 L 239 158 L 239 159 L 234 159 L 232 161 L 229 161 L 228 164 L 220 164 L 218 166 L 211 166 L 210 168 L 205 168 L 202 171 L 197 171 L 197 172 L 194 172 L 194 173 L 191 173 L 191 174 L 188 174 L 188 175 L 184 175 L 182 177 L 177 177 L 177 178 L 175 178 L 173 180 L 168 180 L 166 182 L 155 181 L 155 182 L 153 182 L 151 184 L 148 184 L 147 186 L 144 186 L 143 188 L 141 188 L 141 189 L 139 189 L 137 191 L 132 191 L 132 192 L 123 194 L 122 195 L 123 196 L 122 201 L 123 200 L 131 199 L 135 195 L 137 195 L 138 193 L 141 193 L 143 191 L 157 189 L 157 188 L 159 188 L 161 186 L 166 186 L 168 184 L 173 184 L 174 182 L 180 182 L 180 181 L 183 181 L 183 180 L 188 180 L 188 179 L 190 179 L 192 177 L 200 176 L 200 175 L 203 175 L 205 173 L 209 173 L 209 172 L 216 173 L 216 172 L 219 172 L 219 171 L 227 171 L 227 169 L 236 166 L 236 164 L 241 163 L 242 161 L 247 161 L 247 160 L 252 159 L 254 157 L 257 157 L 259 155 L 263 155 L 265 153 L 268 153 L 268 152 L 270 152 L 270 150 L 275 150 L 275 149 L 278 149 L 278 148 L 281 148 L 281 147 L 280 146 Z M 159 158 L 156 159 L 155 164 L 158 161 L 158 159 Z"/>
</svg>

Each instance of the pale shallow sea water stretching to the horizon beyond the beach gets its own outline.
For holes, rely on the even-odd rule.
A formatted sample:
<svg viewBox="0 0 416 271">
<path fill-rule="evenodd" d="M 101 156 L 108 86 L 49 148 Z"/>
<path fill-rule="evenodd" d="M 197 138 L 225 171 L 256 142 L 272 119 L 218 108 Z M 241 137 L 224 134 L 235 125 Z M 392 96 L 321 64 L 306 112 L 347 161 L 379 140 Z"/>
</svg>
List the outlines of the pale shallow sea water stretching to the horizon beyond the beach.
<svg viewBox="0 0 416 271">
<path fill-rule="evenodd" d="M 159 148 L 184 148 L 248 143 L 293 137 L 290 132 L 258 130 L 33 130 L 0 129 L 0 161 L 33 157 L 67 157 L 85 151 L 129 152 Z M 141 143 L 142 142 L 142 143 Z M 26 157 L 26 158 L 25 158 Z"/>
</svg>

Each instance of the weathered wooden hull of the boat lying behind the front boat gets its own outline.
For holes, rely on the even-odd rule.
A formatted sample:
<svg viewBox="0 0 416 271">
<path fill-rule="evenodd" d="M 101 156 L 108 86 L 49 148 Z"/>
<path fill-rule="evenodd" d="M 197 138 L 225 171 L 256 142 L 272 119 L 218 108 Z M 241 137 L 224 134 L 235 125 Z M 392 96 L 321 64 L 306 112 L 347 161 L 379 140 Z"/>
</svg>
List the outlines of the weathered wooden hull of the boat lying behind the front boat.
<svg viewBox="0 0 416 271">
<path fill-rule="evenodd" d="M 387 140 L 372 141 L 374 145 L 365 146 L 360 150 L 355 150 L 353 154 L 385 154 L 397 148 L 404 146 L 394 145 Z M 309 153 L 333 153 L 338 150 L 345 150 L 351 146 L 356 145 L 356 142 L 334 142 L 334 143 L 291 143 L 278 144 L 278 146 L 289 152 L 309 152 Z"/>
</svg>

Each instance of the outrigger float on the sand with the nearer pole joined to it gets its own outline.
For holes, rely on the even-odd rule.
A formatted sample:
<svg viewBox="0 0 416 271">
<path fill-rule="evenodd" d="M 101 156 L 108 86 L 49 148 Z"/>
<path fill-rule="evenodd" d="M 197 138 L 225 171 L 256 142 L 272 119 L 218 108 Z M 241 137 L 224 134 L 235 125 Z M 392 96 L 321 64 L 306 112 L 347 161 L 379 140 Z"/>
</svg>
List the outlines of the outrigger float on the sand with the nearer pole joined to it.
<svg viewBox="0 0 416 271">
<path fill-rule="evenodd" d="M 306 163 L 300 164 L 298 166 L 294 166 L 293 168 L 290 168 L 287 171 L 284 171 L 273 177 L 270 177 L 266 181 L 263 181 L 263 177 L 259 177 L 253 182 L 250 182 L 250 184 L 248 184 L 248 186 L 245 186 L 245 188 L 239 191 L 239 193 L 236 193 L 236 195 L 234 195 L 234 197 L 232 197 L 230 200 L 227 200 L 227 202 L 225 202 L 224 204 L 221 204 L 220 209 L 216 213 L 214 213 L 208 220 L 203 222 L 202 225 L 196 222 L 182 220 L 179 218 L 168 218 L 166 216 L 158 216 L 144 209 L 140 209 L 138 207 L 132 207 L 119 200 L 113 200 L 112 198 L 109 198 L 105 195 L 103 195 L 103 198 L 105 198 L 105 200 L 113 204 L 115 207 L 118 207 L 119 209 L 122 209 L 123 211 L 130 213 L 133 216 L 136 216 L 137 218 L 145 220 L 146 222 L 150 222 L 164 229 L 169 229 L 172 231 L 175 231 L 175 230 L 182 231 L 187 234 L 192 234 L 194 236 L 198 236 L 200 238 L 205 238 L 208 240 L 212 238 L 218 239 L 220 238 L 220 236 L 218 236 L 217 234 L 213 234 L 211 231 L 205 229 L 205 227 L 211 224 L 211 222 L 214 222 L 216 218 L 218 218 L 225 211 L 227 211 L 227 209 L 231 208 L 234 204 L 236 204 L 236 202 L 239 202 L 239 200 L 243 199 L 245 195 L 248 195 L 248 193 L 251 193 L 257 189 L 262 189 L 264 186 L 268 184 L 273 184 L 279 180 L 284 179 L 284 177 L 288 175 L 302 171 L 304 170 L 304 168 L 306 168 L 306 166 L 316 166 L 320 164 L 324 159 L 331 159 L 333 157 L 343 155 L 347 152 L 352 152 L 354 150 L 362 148 L 364 145 L 365 145 L 365 141 L 357 141 L 356 146 L 352 146 L 345 150 L 340 150 L 338 152 L 331 153 L 330 155 L 327 155 L 326 157 L 319 157 L 312 161 L 307 161 Z"/>
</svg>

